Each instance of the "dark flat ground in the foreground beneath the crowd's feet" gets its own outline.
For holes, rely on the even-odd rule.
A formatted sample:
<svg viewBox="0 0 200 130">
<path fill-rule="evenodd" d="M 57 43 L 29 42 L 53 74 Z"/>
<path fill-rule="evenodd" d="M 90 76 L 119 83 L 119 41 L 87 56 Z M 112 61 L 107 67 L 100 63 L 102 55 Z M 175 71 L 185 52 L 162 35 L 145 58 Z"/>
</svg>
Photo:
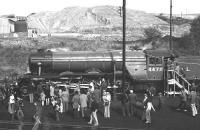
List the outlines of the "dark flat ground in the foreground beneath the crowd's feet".
<svg viewBox="0 0 200 130">
<path fill-rule="evenodd" d="M 55 121 L 52 107 L 44 106 L 42 124 L 39 130 L 199 130 L 200 116 L 192 117 L 190 108 L 187 112 L 177 111 L 178 98 L 167 98 L 166 105 L 161 110 L 152 112 L 152 124 L 141 121 L 141 112 L 137 111 L 134 117 L 123 117 L 119 102 L 113 102 L 111 106 L 111 119 L 105 119 L 102 112 L 98 112 L 100 125 L 93 127 L 88 125 L 88 118 L 74 119 L 72 112 L 62 115 L 61 121 Z M 154 101 L 157 106 L 157 99 Z M 189 107 L 189 106 L 188 106 Z M 25 101 L 23 130 L 31 130 L 33 127 L 32 116 L 34 105 Z M 9 121 L 9 115 L 5 105 L 0 105 L 0 130 L 17 130 L 19 122 Z"/>
</svg>

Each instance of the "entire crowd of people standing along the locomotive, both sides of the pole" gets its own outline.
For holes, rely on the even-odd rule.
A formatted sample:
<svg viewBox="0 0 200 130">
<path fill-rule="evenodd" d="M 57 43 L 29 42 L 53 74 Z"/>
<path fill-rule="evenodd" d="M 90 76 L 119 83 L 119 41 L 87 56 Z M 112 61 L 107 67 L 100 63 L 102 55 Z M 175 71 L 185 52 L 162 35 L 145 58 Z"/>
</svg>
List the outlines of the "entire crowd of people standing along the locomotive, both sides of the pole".
<svg viewBox="0 0 200 130">
<path fill-rule="evenodd" d="M 41 124 L 42 110 L 44 106 L 50 106 L 55 113 L 55 121 L 62 120 L 64 113 L 73 111 L 73 117 L 75 119 L 89 117 L 88 124 L 98 126 L 98 114 L 102 113 L 105 119 L 111 118 L 111 104 L 114 97 L 109 89 L 106 89 L 108 84 L 103 79 L 99 84 L 93 80 L 90 83 L 91 87 L 87 89 L 73 89 L 71 92 L 70 87 L 56 88 L 56 84 L 42 82 L 35 85 L 33 82 L 28 87 L 29 103 L 35 105 L 35 114 L 33 119 L 35 120 L 33 130 L 37 130 Z M 8 105 L 8 112 L 10 119 L 14 120 L 17 115 L 18 120 L 23 124 L 23 99 L 20 95 L 17 84 L 7 88 L 1 88 L 0 98 L 2 104 Z M 162 109 L 165 104 L 165 97 L 162 93 L 158 93 L 159 104 L 154 107 L 153 99 L 156 94 L 156 90 L 147 89 L 142 96 L 142 100 L 138 97 L 133 90 L 126 90 L 118 96 L 118 101 L 121 102 L 122 116 L 133 117 L 138 115 L 138 110 L 142 113 L 141 119 L 145 123 L 151 123 L 151 111 Z M 140 95 L 141 96 L 141 95 Z M 188 110 L 188 103 L 191 106 L 192 116 L 196 116 L 200 112 L 200 96 L 196 93 L 195 89 L 191 90 L 191 93 L 187 95 L 182 89 L 180 95 L 180 104 L 177 106 L 177 110 Z"/>
</svg>

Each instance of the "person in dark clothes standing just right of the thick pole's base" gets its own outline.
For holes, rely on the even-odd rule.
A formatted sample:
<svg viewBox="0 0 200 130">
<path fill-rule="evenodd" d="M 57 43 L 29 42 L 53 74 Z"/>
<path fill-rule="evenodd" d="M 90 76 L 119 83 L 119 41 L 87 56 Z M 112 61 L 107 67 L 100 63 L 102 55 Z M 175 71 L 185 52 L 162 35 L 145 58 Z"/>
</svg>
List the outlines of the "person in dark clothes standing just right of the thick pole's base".
<svg viewBox="0 0 200 130">
<path fill-rule="evenodd" d="M 130 113 L 133 116 L 135 112 L 135 105 L 137 101 L 137 95 L 133 92 L 133 90 L 130 90 L 129 94 L 129 100 L 130 100 Z"/>
</svg>

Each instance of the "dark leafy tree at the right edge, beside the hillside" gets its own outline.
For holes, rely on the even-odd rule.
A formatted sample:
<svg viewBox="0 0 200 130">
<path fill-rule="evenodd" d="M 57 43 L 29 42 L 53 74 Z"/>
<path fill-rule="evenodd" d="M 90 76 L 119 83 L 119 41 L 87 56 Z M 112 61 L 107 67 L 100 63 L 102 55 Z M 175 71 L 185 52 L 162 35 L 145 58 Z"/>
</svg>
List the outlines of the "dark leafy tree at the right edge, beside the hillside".
<svg viewBox="0 0 200 130">
<path fill-rule="evenodd" d="M 191 28 L 190 28 L 190 35 L 192 39 L 192 43 L 194 45 L 194 51 L 196 54 L 200 54 L 199 49 L 200 49 L 200 16 L 195 18 L 192 23 L 191 23 Z"/>
</svg>

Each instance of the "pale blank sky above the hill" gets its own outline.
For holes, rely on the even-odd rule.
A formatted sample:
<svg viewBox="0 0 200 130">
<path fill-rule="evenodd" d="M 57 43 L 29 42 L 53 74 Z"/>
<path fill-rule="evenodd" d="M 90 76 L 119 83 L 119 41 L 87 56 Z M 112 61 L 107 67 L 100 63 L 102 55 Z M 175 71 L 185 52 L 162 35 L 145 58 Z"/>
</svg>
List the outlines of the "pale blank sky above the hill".
<svg viewBox="0 0 200 130">
<path fill-rule="evenodd" d="M 1 0 L 0 15 L 26 16 L 41 11 L 59 11 L 66 7 L 121 6 L 123 0 Z M 172 0 L 174 14 L 200 13 L 200 0 Z M 147 13 L 168 13 L 170 0 L 126 0 L 126 7 Z"/>
</svg>

